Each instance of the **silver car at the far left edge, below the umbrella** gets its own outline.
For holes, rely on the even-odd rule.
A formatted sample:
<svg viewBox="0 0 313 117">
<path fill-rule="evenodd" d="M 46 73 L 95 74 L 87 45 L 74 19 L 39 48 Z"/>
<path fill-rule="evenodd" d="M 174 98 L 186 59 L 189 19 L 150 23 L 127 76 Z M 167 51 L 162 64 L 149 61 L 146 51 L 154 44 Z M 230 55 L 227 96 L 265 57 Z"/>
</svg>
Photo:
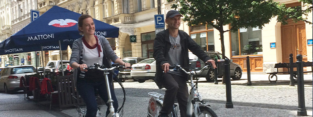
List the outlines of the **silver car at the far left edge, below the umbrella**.
<svg viewBox="0 0 313 117">
<path fill-rule="evenodd" d="M 36 73 L 36 68 L 31 65 L 8 66 L 0 71 L 0 91 L 9 93 L 18 91 L 19 80 L 25 75 L 33 75 Z"/>
</svg>

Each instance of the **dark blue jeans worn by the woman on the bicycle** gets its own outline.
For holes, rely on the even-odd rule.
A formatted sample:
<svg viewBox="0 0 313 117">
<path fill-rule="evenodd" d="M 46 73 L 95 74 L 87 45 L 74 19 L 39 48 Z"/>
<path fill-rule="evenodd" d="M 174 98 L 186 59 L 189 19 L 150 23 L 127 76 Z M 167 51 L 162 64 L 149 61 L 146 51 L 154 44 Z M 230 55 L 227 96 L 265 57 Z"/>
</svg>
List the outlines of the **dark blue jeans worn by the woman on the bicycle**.
<svg viewBox="0 0 313 117">
<path fill-rule="evenodd" d="M 111 82 L 109 83 L 109 85 L 110 85 L 111 97 L 112 97 L 112 100 L 114 101 L 113 102 L 114 111 L 116 112 L 116 110 L 118 108 L 117 99 L 116 99 L 115 93 L 113 91 L 113 87 L 112 87 Z M 87 107 L 86 117 L 95 117 L 96 116 L 97 102 L 95 100 L 95 95 L 94 95 L 94 91 L 96 89 L 98 89 L 98 94 L 101 97 L 101 99 L 106 103 L 108 100 L 108 97 L 107 97 L 106 85 L 105 85 L 104 80 L 99 81 L 99 82 L 79 82 L 79 81 L 77 81 L 78 94 L 81 96 L 81 98 L 83 99 L 83 101 L 85 102 L 86 107 Z M 109 105 L 106 104 L 106 106 L 107 106 L 107 110 L 106 110 L 106 116 L 107 116 L 109 114 L 109 110 L 108 110 Z"/>
</svg>

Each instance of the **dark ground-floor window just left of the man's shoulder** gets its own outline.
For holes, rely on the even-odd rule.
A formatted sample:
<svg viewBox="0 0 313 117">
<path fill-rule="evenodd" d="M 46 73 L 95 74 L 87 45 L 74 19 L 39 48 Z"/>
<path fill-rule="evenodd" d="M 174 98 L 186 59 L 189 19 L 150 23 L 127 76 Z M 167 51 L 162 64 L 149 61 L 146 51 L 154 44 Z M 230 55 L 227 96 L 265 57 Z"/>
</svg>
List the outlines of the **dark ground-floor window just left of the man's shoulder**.
<svg viewBox="0 0 313 117">
<path fill-rule="evenodd" d="M 142 57 L 153 57 L 153 41 L 155 38 L 155 32 L 148 32 L 141 34 L 141 52 Z"/>
</svg>

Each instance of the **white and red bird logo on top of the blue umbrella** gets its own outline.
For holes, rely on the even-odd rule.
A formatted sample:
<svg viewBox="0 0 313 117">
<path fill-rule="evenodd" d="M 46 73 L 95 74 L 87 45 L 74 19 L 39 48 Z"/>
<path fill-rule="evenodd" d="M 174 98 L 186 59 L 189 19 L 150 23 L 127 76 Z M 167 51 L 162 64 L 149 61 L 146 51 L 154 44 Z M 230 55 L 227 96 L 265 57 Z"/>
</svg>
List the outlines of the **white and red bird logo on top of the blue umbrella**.
<svg viewBox="0 0 313 117">
<path fill-rule="evenodd" d="M 54 19 L 49 22 L 48 25 L 52 25 L 54 27 L 70 27 L 78 23 L 77 21 L 73 19 Z"/>
</svg>

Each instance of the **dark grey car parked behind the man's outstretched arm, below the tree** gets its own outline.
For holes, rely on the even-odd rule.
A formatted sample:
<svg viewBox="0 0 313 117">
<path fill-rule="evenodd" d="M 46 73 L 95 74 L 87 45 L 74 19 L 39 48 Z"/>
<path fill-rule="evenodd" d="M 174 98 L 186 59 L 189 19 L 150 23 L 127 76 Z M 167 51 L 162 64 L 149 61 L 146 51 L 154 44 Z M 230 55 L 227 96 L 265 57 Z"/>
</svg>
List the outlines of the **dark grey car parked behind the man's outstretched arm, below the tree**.
<svg viewBox="0 0 313 117">
<path fill-rule="evenodd" d="M 221 59 L 222 55 L 219 52 L 214 52 L 214 51 L 205 51 L 205 53 L 211 57 L 212 59 Z M 226 57 L 227 58 L 227 57 Z M 200 60 L 197 56 L 189 52 L 189 63 L 190 63 L 190 69 L 195 69 L 195 72 L 197 75 L 194 75 L 194 77 L 205 77 L 206 81 L 211 82 L 214 81 L 214 70 L 213 69 L 203 69 L 205 66 L 205 63 Z M 230 77 L 233 80 L 239 80 L 242 75 L 242 68 L 240 65 L 233 63 L 232 60 L 230 59 Z M 224 69 L 222 68 L 217 68 L 217 69 Z M 222 75 L 219 74 L 217 78 L 221 78 Z"/>
</svg>

